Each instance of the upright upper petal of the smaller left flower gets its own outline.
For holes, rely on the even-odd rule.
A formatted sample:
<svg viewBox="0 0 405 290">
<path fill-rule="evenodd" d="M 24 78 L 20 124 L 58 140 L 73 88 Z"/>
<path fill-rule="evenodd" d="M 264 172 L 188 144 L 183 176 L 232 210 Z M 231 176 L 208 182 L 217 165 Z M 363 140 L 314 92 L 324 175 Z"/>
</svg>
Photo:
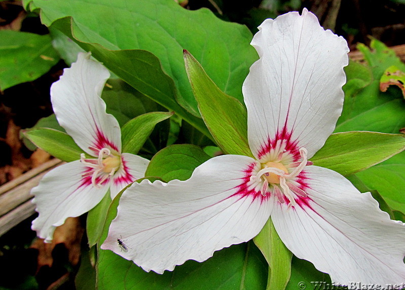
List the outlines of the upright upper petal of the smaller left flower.
<svg viewBox="0 0 405 290">
<path fill-rule="evenodd" d="M 78 60 L 66 68 L 51 87 L 51 101 L 59 124 L 87 153 L 98 156 L 94 148 L 121 152 L 121 130 L 116 118 L 105 112 L 100 98 L 108 70 L 79 53 Z M 80 156 L 78 156 L 80 158 Z"/>
</svg>

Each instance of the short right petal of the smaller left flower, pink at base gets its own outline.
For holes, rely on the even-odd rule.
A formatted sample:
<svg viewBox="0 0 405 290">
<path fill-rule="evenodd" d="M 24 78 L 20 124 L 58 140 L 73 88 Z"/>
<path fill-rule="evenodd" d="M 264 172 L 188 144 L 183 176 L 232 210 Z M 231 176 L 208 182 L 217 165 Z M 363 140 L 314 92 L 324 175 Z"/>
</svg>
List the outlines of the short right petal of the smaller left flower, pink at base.
<svg viewBox="0 0 405 290">
<path fill-rule="evenodd" d="M 121 154 L 122 167 L 115 173 L 110 187 L 111 198 L 128 184 L 145 176 L 149 160 L 131 153 Z"/>
</svg>

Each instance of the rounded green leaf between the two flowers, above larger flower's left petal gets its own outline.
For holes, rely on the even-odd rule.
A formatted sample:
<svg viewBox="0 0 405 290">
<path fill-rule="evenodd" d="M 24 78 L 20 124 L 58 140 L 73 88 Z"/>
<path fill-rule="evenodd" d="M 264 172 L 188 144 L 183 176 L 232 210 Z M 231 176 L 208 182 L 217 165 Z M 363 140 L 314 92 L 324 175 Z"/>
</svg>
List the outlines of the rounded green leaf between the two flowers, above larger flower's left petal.
<svg viewBox="0 0 405 290">
<path fill-rule="evenodd" d="M 198 146 L 171 145 L 160 150 L 149 162 L 145 176 L 159 176 L 163 181 L 187 180 L 194 169 L 210 157 Z"/>
</svg>

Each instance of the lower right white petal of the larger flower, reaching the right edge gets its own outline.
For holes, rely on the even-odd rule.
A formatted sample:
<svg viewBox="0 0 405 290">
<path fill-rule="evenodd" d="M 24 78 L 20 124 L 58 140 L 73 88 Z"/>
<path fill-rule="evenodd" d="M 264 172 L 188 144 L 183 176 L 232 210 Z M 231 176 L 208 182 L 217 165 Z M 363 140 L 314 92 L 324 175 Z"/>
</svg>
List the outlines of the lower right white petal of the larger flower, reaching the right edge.
<svg viewBox="0 0 405 290">
<path fill-rule="evenodd" d="M 340 174 L 315 166 L 305 171 L 307 204 L 277 205 L 272 213 L 289 250 L 336 284 L 404 282 L 404 224 L 390 220 L 369 192 L 358 192 Z"/>
</svg>

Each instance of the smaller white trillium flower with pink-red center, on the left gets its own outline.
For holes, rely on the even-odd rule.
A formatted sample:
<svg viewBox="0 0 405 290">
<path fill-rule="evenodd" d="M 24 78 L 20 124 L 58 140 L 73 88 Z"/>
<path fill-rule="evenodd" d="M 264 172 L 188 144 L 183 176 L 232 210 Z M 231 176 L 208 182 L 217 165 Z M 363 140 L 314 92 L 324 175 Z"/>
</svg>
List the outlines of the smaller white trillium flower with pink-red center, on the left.
<svg viewBox="0 0 405 290">
<path fill-rule="evenodd" d="M 80 53 L 51 87 L 52 106 L 59 124 L 85 154 L 47 173 L 32 189 L 39 217 L 32 229 L 51 241 L 55 227 L 80 216 L 110 191 L 114 198 L 126 185 L 144 176 L 149 160 L 121 152 L 121 129 L 105 112 L 100 98 L 108 70 Z"/>
</svg>

